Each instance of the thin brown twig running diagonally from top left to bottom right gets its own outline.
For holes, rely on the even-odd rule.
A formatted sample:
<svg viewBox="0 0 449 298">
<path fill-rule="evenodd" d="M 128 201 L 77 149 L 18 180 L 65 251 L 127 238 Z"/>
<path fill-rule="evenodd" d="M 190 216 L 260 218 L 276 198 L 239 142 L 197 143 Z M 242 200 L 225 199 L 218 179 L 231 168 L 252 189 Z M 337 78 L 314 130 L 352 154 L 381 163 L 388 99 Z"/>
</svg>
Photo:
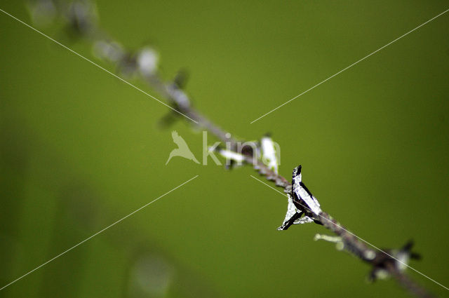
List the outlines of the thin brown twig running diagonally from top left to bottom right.
<svg viewBox="0 0 449 298">
<path fill-rule="evenodd" d="M 34 20 L 44 20 L 46 18 L 63 20 L 72 36 L 76 36 L 77 38 L 81 37 L 90 41 L 95 53 L 103 60 L 112 62 L 122 74 L 139 76 L 153 90 L 156 90 L 156 92 L 166 98 L 167 103 L 173 109 L 192 118 L 198 123 L 196 126 L 208 130 L 217 139 L 230 144 L 232 151 L 243 156 L 244 163 L 253 165 L 253 168 L 262 177 L 270 182 L 274 182 L 276 187 L 283 189 L 283 192 L 288 196 L 289 200 L 291 199 L 289 201 L 289 204 L 291 204 L 289 208 L 293 208 L 293 213 L 291 213 L 293 217 L 290 218 L 290 222 L 284 222 L 285 226 L 283 226 L 283 229 L 288 229 L 288 226 L 293 223 L 315 222 L 316 224 L 321 224 L 336 236 L 317 235 L 316 239 L 335 242 L 337 243 L 337 248 L 340 250 L 346 250 L 351 255 L 368 263 L 371 266 L 371 280 L 391 276 L 408 290 L 408 292 L 415 294 L 417 297 L 434 297 L 413 280 L 410 280 L 403 272 L 407 266 L 408 259 L 417 258 L 417 255 L 411 252 L 411 242 L 399 250 L 373 250 L 368 248 L 366 241 L 362 241 L 361 238 L 358 238 L 354 233 L 344 228 L 344 226 L 328 215 L 328 213 L 321 211 L 318 201 L 316 201 L 317 205 L 315 207 L 318 208 L 317 210 L 319 212 L 311 212 L 311 206 L 305 198 L 295 192 L 297 190 L 294 189 L 295 186 L 289 180 L 279 175 L 272 168 L 269 168 L 261 160 L 260 156 L 257 156 L 253 149 L 247 148 L 245 150 L 243 148 L 243 150 L 237 150 L 237 147 L 243 143 L 243 140 L 234 139 L 230 133 L 215 125 L 215 123 L 194 109 L 189 97 L 182 90 L 182 86 L 185 84 L 185 78 L 182 75 L 177 76 L 174 81 L 169 82 L 161 79 L 157 71 L 157 54 L 154 50 L 151 48 L 142 48 L 137 53 L 131 53 L 124 50 L 120 43 L 109 38 L 109 35 L 98 27 L 95 6 L 90 1 L 78 0 L 67 3 L 52 0 L 36 0 L 30 6 L 30 12 Z M 183 117 L 180 114 L 170 111 L 168 118 Z M 295 172 L 293 179 L 295 180 Z M 315 199 L 304 184 L 302 182 L 300 183 L 304 191 L 307 192 L 307 196 Z"/>
</svg>

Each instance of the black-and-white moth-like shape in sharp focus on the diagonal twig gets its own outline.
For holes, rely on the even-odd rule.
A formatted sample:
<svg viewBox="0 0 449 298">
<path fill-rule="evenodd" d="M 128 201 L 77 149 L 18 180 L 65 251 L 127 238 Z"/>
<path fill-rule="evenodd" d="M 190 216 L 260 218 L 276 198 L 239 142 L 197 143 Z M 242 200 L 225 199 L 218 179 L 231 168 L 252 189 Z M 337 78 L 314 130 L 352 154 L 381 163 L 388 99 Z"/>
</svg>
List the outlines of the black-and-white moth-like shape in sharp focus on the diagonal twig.
<svg viewBox="0 0 449 298">
<path fill-rule="evenodd" d="M 301 165 L 293 170 L 293 191 L 288 196 L 286 218 L 278 230 L 286 230 L 292 224 L 307 224 L 321 213 L 320 204 L 302 183 Z M 302 217 L 304 215 L 304 217 Z"/>
</svg>

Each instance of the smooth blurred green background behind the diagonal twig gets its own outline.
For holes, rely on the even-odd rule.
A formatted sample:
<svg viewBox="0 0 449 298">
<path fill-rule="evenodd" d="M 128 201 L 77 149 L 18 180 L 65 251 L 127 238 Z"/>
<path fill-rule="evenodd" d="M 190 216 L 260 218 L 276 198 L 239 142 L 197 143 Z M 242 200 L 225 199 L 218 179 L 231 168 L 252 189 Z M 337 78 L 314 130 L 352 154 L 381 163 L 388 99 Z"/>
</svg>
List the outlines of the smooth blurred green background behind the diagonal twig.
<svg viewBox="0 0 449 298">
<path fill-rule="evenodd" d="M 1 9 L 31 22 L 27 2 Z M 449 13 L 272 114 L 255 118 L 449 8 L 448 1 L 98 0 L 103 29 L 151 43 L 161 74 L 188 69 L 194 104 L 236 136 L 281 145 L 323 210 L 381 248 L 413 238 L 410 265 L 449 285 Z M 83 42 L 44 29 L 96 60 Z M 408 297 L 322 226 L 276 231 L 286 199 L 253 180 L 173 158 L 167 108 L 0 13 L 0 286 L 140 210 L 0 297 Z M 155 94 L 142 82 L 137 86 Z M 209 142 L 215 140 L 209 135 Z M 409 271 L 432 292 L 448 292 Z"/>
</svg>

